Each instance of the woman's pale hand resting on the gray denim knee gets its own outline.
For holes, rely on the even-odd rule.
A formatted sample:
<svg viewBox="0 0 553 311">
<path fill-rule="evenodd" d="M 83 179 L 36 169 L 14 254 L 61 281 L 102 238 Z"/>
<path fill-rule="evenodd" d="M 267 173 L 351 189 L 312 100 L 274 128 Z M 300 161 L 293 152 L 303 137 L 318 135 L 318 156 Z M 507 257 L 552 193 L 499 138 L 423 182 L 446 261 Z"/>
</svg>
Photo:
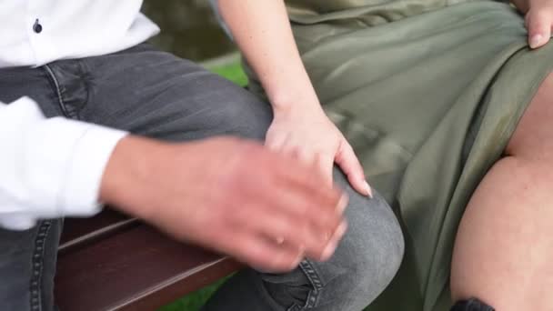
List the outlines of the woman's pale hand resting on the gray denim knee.
<svg viewBox="0 0 553 311">
<path fill-rule="evenodd" d="M 372 197 L 353 148 L 318 103 L 289 105 L 284 111 L 275 109 L 266 146 L 295 156 L 307 165 L 318 166 L 326 185 L 332 185 L 332 169 L 336 163 L 357 192 Z"/>
</svg>

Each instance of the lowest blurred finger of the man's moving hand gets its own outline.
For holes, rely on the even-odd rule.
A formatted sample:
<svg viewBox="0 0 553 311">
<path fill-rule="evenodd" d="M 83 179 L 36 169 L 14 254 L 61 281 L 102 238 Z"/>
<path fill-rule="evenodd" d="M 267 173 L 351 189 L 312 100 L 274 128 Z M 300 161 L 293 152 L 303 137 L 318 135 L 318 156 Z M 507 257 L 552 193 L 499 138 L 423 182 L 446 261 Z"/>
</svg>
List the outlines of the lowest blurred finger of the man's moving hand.
<svg viewBox="0 0 553 311">
<path fill-rule="evenodd" d="M 265 236 L 247 231 L 227 232 L 226 238 L 222 240 L 227 242 L 220 246 L 220 250 L 234 256 L 240 262 L 266 272 L 293 270 L 303 259 L 303 253 L 299 249 L 277 244 Z"/>
</svg>

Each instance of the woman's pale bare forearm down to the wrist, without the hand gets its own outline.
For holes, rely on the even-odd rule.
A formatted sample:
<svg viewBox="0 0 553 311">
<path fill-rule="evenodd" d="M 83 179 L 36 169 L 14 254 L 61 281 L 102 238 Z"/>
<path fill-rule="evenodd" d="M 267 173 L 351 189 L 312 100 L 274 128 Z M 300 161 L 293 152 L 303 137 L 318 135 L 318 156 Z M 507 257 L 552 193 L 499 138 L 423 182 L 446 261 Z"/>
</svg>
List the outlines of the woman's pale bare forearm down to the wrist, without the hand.
<svg viewBox="0 0 553 311">
<path fill-rule="evenodd" d="M 218 0 L 218 7 L 274 109 L 318 105 L 283 0 Z"/>
</svg>

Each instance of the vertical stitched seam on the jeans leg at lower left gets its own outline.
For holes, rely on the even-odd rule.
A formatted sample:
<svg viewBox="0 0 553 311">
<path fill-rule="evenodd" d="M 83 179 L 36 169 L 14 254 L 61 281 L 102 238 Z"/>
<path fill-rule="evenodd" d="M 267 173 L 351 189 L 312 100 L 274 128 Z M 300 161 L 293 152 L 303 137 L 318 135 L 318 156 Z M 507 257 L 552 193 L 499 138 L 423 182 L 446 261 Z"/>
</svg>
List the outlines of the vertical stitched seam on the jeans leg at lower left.
<svg viewBox="0 0 553 311">
<path fill-rule="evenodd" d="M 33 258 L 31 260 L 31 310 L 42 310 L 42 268 L 43 260 L 45 256 L 45 242 L 52 227 L 52 221 L 45 220 L 38 226 L 38 231 L 35 238 L 35 250 L 33 251 Z"/>
</svg>

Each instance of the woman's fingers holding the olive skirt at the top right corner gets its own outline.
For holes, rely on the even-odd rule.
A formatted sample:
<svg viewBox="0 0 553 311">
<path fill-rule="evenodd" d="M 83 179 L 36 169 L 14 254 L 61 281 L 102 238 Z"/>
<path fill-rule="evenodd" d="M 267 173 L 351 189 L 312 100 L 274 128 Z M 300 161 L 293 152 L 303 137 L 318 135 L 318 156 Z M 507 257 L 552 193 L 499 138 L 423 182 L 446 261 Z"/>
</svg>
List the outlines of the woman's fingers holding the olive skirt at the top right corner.
<svg viewBox="0 0 553 311">
<path fill-rule="evenodd" d="M 513 1 L 518 10 L 526 14 L 528 44 L 531 48 L 546 45 L 553 28 L 553 0 Z"/>
</svg>

